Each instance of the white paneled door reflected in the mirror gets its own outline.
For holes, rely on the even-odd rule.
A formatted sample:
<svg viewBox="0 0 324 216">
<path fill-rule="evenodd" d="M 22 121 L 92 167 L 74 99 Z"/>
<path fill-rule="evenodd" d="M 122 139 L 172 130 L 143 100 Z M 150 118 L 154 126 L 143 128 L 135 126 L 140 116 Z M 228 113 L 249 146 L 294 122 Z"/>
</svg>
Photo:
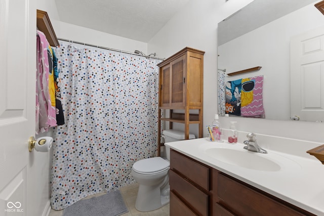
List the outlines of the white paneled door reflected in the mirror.
<svg viewBox="0 0 324 216">
<path fill-rule="evenodd" d="M 291 38 L 291 117 L 324 122 L 324 27 Z"/>
</svg>

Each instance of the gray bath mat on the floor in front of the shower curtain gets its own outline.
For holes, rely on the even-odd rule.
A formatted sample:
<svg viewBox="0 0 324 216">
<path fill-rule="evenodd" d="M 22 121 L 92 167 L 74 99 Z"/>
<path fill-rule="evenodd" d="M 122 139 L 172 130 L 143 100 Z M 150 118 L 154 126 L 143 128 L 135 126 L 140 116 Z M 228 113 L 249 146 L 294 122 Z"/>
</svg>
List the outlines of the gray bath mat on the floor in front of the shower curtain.
<svg viewBox="0 0 324 216">
<path fill-rule="evenodd" d="M 120 192 L 108 193 L 83 199 L 64 208 L 63 216 L 117 216 L 128 212 Z"/>
</svg>

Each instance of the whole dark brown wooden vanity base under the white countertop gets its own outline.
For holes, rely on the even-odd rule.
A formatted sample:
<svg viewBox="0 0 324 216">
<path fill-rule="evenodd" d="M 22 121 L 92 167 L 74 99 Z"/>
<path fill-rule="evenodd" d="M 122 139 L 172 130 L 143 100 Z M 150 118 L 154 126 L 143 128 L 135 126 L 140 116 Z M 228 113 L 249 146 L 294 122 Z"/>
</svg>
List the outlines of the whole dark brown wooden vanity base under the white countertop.
<svg viewBox="0 0 324 216">
<path fill-rule="evenodd" d="M 170 215 L 314 215 L 175 150 Z"/>
</svg>

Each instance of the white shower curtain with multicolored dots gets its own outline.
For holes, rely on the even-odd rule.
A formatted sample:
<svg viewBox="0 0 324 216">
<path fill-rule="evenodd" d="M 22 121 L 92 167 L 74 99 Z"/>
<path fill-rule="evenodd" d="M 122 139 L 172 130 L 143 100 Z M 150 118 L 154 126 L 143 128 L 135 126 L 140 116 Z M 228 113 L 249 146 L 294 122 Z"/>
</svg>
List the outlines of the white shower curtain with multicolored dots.
<svg viewBox="0 0 324 216">
<path fill-rule="evenodd" d="M 158 60 L 96 48 L 56 49 L 65 124 L 54 130 L 54 209 L 134 183 L 135 161 L 156 156 Z"/>
</svg>

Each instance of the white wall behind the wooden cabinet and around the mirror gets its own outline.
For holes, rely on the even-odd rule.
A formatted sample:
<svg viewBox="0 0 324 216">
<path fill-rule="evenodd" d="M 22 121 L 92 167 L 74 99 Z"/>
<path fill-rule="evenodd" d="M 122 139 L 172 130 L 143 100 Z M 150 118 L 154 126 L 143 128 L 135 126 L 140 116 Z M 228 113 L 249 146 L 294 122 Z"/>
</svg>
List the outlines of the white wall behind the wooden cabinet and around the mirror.
<svg viewBox="0 0 324 216">
<path fill-rule="evenodd" d="M 246 6 L 252 0 L 192 0 L 149 42 L 148 52 L 169 57 L 184 47 L 206 51 L 204 56 L 204 125 L 211 124 L 217 113 L 217 23 Z M 324 123 L 279 121 L 235 117 L 220 118 L 224 128 L 236 120 L 239 131 L 292 139 L 322 142 Z M 206 130 L 204 131 L 207 136 Z"/>
</svg>

